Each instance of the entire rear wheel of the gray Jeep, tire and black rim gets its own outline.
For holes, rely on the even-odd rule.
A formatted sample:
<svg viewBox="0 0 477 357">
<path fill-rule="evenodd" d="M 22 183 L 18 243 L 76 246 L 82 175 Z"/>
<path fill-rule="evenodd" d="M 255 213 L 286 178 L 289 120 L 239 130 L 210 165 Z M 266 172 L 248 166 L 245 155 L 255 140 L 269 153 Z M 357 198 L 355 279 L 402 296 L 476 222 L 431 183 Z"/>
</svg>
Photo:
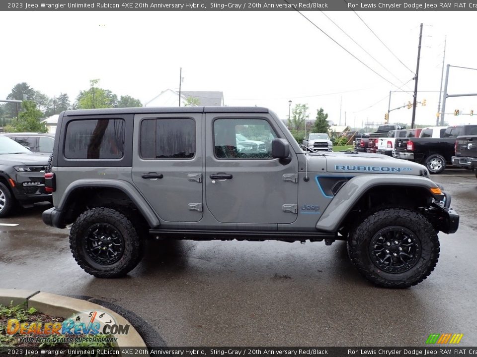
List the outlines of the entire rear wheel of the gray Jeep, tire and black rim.
<svg viewBox="0 0 477 357">
<path fill-rule="evenodd" d="M 143 255 L 144 240 L 131 221 L 111 208 L 83 212 L 70 231 L 70 248 L 79 266 L 97 278 L 121 277 Z"/>
</svg>

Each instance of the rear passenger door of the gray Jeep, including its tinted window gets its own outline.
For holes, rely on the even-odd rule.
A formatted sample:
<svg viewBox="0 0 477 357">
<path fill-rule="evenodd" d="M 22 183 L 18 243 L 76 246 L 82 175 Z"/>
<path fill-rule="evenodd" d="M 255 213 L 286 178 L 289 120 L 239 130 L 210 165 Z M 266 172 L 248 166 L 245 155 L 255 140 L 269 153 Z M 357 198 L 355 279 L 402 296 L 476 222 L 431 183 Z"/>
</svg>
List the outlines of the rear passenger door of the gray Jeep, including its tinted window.
<svg viewBox="0 0 477 357">
<path fill-rule="evenodd" d="M 159 217 L 202 219 L 202 114 L 134 118 L 133 182 Z"/>
</svg>

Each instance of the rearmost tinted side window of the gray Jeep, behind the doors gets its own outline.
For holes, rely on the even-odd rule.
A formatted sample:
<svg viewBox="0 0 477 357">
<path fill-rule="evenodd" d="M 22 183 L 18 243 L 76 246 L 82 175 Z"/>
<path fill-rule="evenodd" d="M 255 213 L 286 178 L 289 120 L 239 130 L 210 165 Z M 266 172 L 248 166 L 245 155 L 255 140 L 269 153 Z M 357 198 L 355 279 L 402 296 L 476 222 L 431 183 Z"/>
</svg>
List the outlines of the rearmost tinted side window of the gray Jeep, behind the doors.
<svg viewBox="0 0 477 357">
<path fill-rule="evenodd" d="M 124 119 L 73 120 L 65 136 L 67 159 L 121 159 L 124 156 Z"/>
</svg>

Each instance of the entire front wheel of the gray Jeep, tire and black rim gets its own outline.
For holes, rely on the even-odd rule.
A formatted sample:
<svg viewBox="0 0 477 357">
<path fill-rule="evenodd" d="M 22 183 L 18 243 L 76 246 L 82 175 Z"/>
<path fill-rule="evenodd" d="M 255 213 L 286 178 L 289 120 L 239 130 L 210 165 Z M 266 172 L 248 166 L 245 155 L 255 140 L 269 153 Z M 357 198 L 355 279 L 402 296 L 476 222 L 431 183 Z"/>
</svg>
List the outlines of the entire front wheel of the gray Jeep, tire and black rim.
<svg viewBox="0 0 477 357">
<path fill-rule="evenodd" d="M 408 288 L 426 279 L 439 258 L 439 240 L 420 213 L 390 208 L 367 217 L 351 234 L 348 254 L 366 279 Z"/>
</svg>

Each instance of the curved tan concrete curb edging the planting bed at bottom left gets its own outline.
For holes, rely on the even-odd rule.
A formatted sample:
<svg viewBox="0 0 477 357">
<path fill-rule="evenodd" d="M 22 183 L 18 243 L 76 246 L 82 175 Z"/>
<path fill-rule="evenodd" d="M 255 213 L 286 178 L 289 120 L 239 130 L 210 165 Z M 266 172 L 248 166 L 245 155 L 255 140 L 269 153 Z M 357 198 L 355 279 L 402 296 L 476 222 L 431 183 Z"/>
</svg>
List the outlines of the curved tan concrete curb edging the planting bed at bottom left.
<svg viewBox="0 0 477 357">
<path fill-rule="evenodd" d="M 141 335 L 139 335 L 128 320 L 118 313 L 96 303 L 39 291 L 0 289 L 0 304 L 8 305 L 11 301 L 13 301 L 13 305 L 25 305 L 26 308 L 34 307 L 39 312 L 63 318 L 69 318 L 73 314 L 83 311 L 99 310 L 107 312 L 115 319 L 117 324 L 130 326 L 127 335 L 113 335 L 118 339 L 116 346 L 147 347 Z"/>
</svg>

